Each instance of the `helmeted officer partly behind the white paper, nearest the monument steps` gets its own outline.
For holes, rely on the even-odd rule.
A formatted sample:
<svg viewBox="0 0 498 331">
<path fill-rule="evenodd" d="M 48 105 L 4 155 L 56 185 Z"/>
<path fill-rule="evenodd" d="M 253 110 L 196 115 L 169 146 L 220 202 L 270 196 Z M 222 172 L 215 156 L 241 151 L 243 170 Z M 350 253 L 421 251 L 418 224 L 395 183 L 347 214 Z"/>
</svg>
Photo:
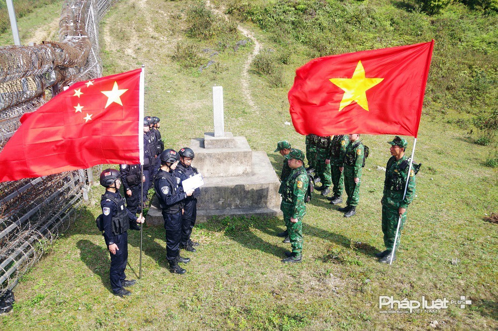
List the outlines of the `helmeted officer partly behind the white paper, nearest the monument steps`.
<svg viewBox="0 0 498 331">
<path fill-rule="evenodd" d="M 178 154 L 180 155 L 180 163 L 174 169 L 173 175 L 180 178 L 178 184 L 181 186 L 182 181 L 195 176 L 199 171 L 191 166 L 192 161 L 194 160 L 194 151 L 188 147 L 184 147 L 178 151 Z M 180 241 L 180 248 L 194 253 L 196 252 L 194 247 L 199 246 L 199 243 L 190 240 L 190 235 L 192 234 L 195 219 L 197 218 L 197 197 L 200 194 L 201 190 L 196 188 L 192 196 L 183 200 L 182 239 Z"/>
</svg>

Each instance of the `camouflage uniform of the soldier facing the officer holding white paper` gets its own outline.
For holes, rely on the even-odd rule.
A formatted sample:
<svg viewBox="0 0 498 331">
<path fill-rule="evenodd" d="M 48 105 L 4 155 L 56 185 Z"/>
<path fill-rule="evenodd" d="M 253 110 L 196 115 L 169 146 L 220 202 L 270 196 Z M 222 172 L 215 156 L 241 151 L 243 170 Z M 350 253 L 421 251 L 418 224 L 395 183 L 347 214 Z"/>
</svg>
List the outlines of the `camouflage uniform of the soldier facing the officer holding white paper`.
<svg viewBox="0 0 498 331">
<path fill-rule="evenodd" d="M 300 151 L 299 151 L 300 152 Z M 302 153 L 302 152 L 300 152 Z M 288 156 L 286 156 L 288 157 Z M 303 248 L 303 217 L 306 215 L 306 205 L 304 198 L 308 189 L 309 179 L 304 166 L 292 169 L 290 175 L 285 181 L 282 181 L 278 193 L 282 195 L 280 210 L 283 213 L 283 219 L 287 232 L 289 234 L 290 244 L 294 256 L 301 256 Z M 291 218 L 298 221 L 292 223 Z"/>
</svg>

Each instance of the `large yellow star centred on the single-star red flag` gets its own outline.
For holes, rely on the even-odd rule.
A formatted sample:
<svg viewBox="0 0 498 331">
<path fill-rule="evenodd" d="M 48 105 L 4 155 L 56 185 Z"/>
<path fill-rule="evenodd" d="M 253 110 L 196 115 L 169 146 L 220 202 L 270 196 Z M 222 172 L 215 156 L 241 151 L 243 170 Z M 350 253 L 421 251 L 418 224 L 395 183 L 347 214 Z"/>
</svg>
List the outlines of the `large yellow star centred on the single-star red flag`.
<svg viewBox="0 0 498 331">
<path fill-rule="evenodd" d="M 366 91 L 382 82 L 383 78 L 366 78 L 362 61 L 358 61 L 352 78 L 331 78 L 329 81 L 344 91 L 339 111 L 343 110 L 344 107 L 353 101 L 356 101 L 363 109 L 369 111 Z"/>
</svg>

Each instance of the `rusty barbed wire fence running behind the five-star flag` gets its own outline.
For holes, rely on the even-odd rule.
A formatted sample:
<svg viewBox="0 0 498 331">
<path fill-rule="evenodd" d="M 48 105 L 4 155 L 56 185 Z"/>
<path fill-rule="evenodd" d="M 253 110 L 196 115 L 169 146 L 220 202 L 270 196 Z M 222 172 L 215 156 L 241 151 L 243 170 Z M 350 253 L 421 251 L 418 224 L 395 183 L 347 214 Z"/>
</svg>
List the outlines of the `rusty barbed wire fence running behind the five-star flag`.
<svg viewBox="0 0 498 331">
<path fill-rule="evenodd" d="M 64 86 L 102 77 L 99 22 L 115 2 L 66 0 L 59 41 L 0 47 L 0 151 L 22 114 Z M 0 299 L 75 221 L 88 199 L 88 179 L 78 170 L 0 183 Z"/>
</svg>

